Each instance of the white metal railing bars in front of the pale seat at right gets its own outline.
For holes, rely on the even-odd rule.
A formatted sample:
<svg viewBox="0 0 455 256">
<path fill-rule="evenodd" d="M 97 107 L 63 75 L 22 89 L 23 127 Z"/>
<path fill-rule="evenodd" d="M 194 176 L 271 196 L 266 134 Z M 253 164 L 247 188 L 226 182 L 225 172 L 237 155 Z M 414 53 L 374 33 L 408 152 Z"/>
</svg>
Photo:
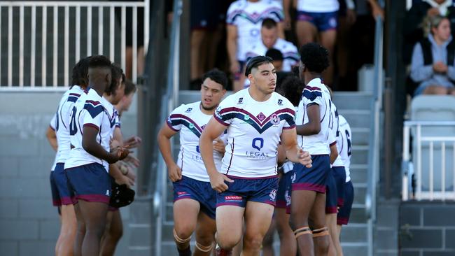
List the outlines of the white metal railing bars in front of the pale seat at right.
<svg viewBox="0 0 455 256">
<path fill-rule="evenodd" d="M 424 127 L 455 127 L 454 121 L 406 121 L 403 127 L 403 152 L 402 152 L 402 200 L 447 200 L 455 199 L 455 164 L 452 162 L 452 168 L 447 168 L 447 160 L 449 158 L 455 160 L 455 136 L 423 136 L 422 129 Z M 413 134 L 411 134 L 413 131 Z M 409 152 L 411 135 L 415 141 L 413 152 Z M 440 169 L 435 170 L 435 148 L 440 150 Z M 428 147 L 428 155 L 423 155 L 423 147 Z M 448 149 L 452 150 L 452 154 L 448 155 Z M 413 159 L 412 159 L 413 158 Z M 428 159 L 428 176 L 423 176 L 422 160 Z M 414 164 L 412 164 L 414 162 Z M 415 168 L 415 173 L 414 173 Z M 439 173 L 437 173 L 439 171 Z M 447 174 L 451 171 L 452 190 L 446 190 Z M 435 188 L 437 179 L 435 173 L 440 174 L 440 190 Z M 437 175 L 439 177 L 439 175 Z M 423 179 L 428 178 L 428 187 L 423 190 Z"/>
</svg>

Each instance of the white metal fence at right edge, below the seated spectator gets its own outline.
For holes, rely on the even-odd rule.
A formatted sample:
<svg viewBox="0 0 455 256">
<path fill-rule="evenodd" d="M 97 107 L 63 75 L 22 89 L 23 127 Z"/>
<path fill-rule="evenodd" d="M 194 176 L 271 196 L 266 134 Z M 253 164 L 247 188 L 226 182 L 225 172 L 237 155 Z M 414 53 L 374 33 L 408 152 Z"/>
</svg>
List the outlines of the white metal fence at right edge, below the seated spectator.
<svg viewBox="0 0 455 256">
<path fill-rule="evenodd" d="M 402 152 L 403 201 L 455 199 L 454 128 L 455 122 L 452 121 L 405 122 Z"/>
</svg>

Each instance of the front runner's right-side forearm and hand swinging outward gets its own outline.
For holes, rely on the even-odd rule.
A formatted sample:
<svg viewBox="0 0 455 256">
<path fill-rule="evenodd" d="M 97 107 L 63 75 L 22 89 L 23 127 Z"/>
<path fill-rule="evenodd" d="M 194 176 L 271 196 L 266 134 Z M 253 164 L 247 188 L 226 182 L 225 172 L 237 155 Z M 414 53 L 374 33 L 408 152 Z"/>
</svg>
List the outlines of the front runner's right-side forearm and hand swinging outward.
<svg viewBox="0 0 455 256">
<path fill-rule="evenodd" d="M 308 151 L 303 151 L 297 145 L 297 134 L 295 129 L 283 129 L 281 132 L 281 145 L 283 145 L 286 157 L 290 162 L 300 163 L 304 166 L 311 167 L 311 156 Z"/>
</svg>

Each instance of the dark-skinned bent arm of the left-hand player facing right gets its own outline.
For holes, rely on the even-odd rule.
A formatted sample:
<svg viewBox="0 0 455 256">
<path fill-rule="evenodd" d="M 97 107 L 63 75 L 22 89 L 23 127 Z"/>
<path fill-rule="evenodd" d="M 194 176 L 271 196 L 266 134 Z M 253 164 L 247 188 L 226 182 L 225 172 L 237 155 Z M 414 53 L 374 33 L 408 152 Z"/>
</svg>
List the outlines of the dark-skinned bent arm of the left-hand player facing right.
<svg viewBox="0 0 455 256">
<path fill-rule="evenodd" d="M 113 164 L 128 155 L 128 150 L 120 147 L 113 149 L 112 152 L 104 150 L 102 145 L 97 142 L 98 131 L 99 128 L 92 125 L 83 127 L 82 147 L 85 151 L 94 157 L 106 160 L 109 164 Z"/>
</svg>

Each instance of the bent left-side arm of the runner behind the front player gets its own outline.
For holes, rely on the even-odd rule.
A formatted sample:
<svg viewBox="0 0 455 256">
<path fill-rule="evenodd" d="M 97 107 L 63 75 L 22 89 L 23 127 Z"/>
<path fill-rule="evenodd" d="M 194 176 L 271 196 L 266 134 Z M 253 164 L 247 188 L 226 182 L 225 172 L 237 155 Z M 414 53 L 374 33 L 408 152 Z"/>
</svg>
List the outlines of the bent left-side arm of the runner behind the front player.
<svg viewBox="0 0 455 256">
<path fill-rule="evenodd" d="M 158 132 L 158 147 L 160 148 L 160 152 L 162 158 L 165 159 L 165 163 L 167 166 L 167 172 L 169 179 L 172 182 L 177 180 L 181 180 L 182 178 L 182 171 L 180 167 L 174 162 L 174 158 L 172 157 L 171 151 L 171 138 L 174 136 L 178 131 L 174 131 L 169 127 L 167 123 L 163 124 L 160 131 Z"/>
</svg>

